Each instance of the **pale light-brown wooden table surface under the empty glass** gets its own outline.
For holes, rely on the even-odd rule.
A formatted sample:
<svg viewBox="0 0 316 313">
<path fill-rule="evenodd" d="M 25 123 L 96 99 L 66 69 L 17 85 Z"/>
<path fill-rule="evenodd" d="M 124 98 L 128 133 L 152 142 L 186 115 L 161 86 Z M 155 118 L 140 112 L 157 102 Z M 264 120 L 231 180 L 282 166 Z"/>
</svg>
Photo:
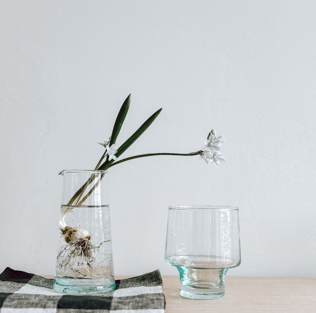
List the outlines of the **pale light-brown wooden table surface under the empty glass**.
<svg viewBox="0 0 316 313">
<path fill-rule="evenodd" d="M 179 276 L 162 281 L 166 313 L 316 312 L 316 278 L 226 276 L 225 296 L 216 300 L 180 297 Z"/>
</svg>

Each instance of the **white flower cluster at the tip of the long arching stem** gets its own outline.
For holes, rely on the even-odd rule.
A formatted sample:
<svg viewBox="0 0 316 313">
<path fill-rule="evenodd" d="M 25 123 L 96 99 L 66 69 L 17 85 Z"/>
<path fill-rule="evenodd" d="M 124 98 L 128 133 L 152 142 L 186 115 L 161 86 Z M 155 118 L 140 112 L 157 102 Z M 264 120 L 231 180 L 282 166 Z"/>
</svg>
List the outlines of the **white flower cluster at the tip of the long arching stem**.
<svg viewBox="0 0 316 313">
<path fill-rule="evenodd" d="M 222 153 L 219 152 L 223 141 L 222 136 L 216 136 L 214 129 L 210 131 L 207 140 L 205 141 L 205 145 L 200 152 L 200 156 L 206 163 L 213 162 L 215 165 L 218 165 L 220 161 L 225 161 L 222 157 Z"/>
</svg>

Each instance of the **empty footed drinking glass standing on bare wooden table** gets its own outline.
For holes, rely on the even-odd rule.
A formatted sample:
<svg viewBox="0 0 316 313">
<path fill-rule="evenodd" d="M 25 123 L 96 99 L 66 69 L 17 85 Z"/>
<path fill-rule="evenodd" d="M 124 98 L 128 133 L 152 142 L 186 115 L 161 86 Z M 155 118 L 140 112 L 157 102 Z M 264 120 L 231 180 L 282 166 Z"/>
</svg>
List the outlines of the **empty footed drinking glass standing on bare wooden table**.
<svg viewBox="0 0 316 313">
<path fill-rule="evenodd" d="M 180 274 L 180 296 L 217 299 L 225 274 L 240 265 L 238 208 L 170 206 L 165 261 Z"/>
</svg>

